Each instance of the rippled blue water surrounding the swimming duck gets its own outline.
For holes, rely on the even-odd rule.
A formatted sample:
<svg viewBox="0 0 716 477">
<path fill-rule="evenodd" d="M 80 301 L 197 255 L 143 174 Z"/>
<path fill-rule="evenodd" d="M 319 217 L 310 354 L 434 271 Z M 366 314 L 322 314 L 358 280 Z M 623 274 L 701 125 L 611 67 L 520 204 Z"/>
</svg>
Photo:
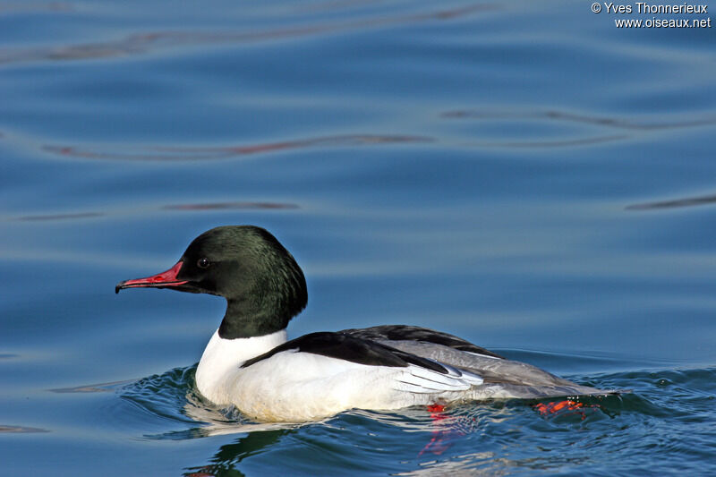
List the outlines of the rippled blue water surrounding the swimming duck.
<svg viewBox="0 0 716 477">
<path fill-rule="evenodd" d="M 0 2 L 0 473 L 716 473 L 716 33 L 589 7 Z M 633 392 L 216 409 L 223 302 L 114 286 L 228 224 L 303 267 L 291 336 L 439 328 Z"/>
</svg>

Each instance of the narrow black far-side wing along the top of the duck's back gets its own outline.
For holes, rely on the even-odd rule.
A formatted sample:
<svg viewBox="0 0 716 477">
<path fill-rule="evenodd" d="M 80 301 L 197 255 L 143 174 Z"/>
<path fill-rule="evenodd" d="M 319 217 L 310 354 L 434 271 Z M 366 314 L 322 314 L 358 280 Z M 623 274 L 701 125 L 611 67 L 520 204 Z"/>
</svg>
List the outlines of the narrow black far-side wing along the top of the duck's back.
<svg viewBox="0 0 716 477">
<path fill-rule="evenodd" d="M 379 341 L 420 341 L 422 343 L 432 343 L 434 345 L 443 345 L 458 351 L 466 351 L 468 353 L 480 354 L 482 356 L 490 356 L 492 358 L 504 359 L 498 353 L 492 353 L 478 345 L 473 345 L 469 341 L 465 341 L 454 335 L 449 335 L 441 331 L 435 331 L 430 328 L 411 327 L 407 325 L 382 325 L 372 328 L 354 328 L 344 329 L 340 333 L 349 336 L 360 337 L 362 339 L 379 340 Z"/>
</svg>

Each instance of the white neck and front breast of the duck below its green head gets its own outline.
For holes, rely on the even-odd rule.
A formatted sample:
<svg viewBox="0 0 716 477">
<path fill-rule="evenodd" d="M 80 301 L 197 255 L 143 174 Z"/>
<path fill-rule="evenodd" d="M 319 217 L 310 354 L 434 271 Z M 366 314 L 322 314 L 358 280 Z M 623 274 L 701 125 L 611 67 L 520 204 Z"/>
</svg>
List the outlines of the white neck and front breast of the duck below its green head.
<svg viewBox="0 0 716 477">
<path fill-rule="evenodd" d="M 286 343 L 286 329 L 265 336 L 224 339 L 218 329 L 201 355 L 196 369 L 196 386 L 199 392 L 217 405 L 229 404 L 228 385 L 231 376 L 239 371 L 243 362 Z"/>
</svg>

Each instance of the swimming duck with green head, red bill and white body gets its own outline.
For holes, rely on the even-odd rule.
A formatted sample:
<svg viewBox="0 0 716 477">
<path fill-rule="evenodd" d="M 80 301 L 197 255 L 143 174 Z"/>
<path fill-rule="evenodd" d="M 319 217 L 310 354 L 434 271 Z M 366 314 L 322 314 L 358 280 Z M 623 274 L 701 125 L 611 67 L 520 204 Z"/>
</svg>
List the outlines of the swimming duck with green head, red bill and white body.
<svg viewBox="0 0 716 477">
<path fill-rule="evenodd" d="M 394 411 L 492 399 L 599 396 L 458 336 L 409 325 L 320 331 L 288 339 L 308 302 L 303 270 L 259 226 L 217 226 L 179 261 L 119 282 L 226 299 L 195 373 L 200 395 L 257 422 L 313 422 L 353 409 Z"/>
</svg>

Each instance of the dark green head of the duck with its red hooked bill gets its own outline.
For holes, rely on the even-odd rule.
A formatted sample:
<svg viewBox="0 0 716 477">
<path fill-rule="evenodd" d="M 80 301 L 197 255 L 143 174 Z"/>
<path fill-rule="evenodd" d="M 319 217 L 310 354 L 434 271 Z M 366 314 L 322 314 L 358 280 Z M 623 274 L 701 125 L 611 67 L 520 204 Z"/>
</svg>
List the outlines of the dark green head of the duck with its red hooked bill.
<svg viewBox="0 0 716 477">
<path fill-rule="evenodd" d="M 226 298 L 223 338 L 263 336 L 286 328 L 306 306 L 303 271 L 276 237 L 257 226 L 220 226 L 200 234 L 173 268 L 125 280 L 124 288 L 171 288 Z"/>
</svg>

